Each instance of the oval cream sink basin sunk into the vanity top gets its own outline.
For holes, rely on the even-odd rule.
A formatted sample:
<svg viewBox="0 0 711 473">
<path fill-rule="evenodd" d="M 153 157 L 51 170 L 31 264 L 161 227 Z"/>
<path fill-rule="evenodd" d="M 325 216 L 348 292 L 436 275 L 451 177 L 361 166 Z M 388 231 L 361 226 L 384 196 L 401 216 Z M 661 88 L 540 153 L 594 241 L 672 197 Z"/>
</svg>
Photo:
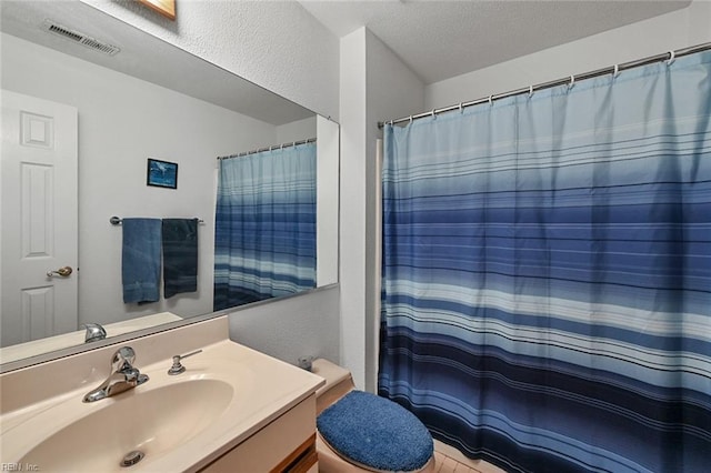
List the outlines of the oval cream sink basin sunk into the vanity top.
<svg viewBox="0 0 711 473">
<path fill-rule="evenodd" d="M 20 463 L 52 471 L 126 471 L 120 465 L 124 456 L 138 451 L 144 454 L 141 461 L 151 461 L 179 447 L 214 422 L 232 397 L 232 386 L 220 380 L 122 393 L 120 402 L 61 429 Z"/>
</svg>

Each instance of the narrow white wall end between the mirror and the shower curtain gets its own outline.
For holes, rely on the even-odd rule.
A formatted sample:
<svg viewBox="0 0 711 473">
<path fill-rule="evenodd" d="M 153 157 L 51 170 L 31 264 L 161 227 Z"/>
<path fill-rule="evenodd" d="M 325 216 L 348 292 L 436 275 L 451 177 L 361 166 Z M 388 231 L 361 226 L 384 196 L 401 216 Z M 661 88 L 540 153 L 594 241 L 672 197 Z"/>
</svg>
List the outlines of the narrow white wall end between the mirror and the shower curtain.
<svg viewBox="0 0 711 473">
<path fill-rule="evenodd" d="M 369 30 L 341 39 L 341 360 L 369 391 L 378 369 L 378 121 L 421 110 L 423 97 L 415 74 Z"/>
</svg>

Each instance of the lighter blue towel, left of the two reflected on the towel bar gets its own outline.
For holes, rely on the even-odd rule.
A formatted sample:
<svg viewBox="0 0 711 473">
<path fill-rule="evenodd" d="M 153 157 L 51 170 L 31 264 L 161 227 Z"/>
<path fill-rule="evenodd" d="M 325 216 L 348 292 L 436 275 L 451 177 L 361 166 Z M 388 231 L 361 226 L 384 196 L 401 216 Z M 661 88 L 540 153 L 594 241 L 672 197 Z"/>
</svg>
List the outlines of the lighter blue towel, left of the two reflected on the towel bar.
<svg viewBox="0 0 711 473">
<path fill-rule="evenodd" d="M 123 219 L 121 282 L 123 302 L 160 299 L 160 219 Z"/>
</svg>

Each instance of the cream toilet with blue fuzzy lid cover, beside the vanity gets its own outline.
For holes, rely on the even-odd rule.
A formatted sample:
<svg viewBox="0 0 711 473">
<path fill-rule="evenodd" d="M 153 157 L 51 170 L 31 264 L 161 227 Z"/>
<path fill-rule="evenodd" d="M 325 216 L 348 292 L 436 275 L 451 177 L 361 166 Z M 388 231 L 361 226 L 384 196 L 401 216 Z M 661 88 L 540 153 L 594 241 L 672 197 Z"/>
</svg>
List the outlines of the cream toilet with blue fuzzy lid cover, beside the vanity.
<svg viewBox="0 0 711 473">
<path fill-rule="evenodd" d="M 316 401 L 320 473 L 435 471 L 432 436 L 414 414 L 356 390 L 351 373 L 328 360 L 311 371 L 326 380 Z"/>
</svg>

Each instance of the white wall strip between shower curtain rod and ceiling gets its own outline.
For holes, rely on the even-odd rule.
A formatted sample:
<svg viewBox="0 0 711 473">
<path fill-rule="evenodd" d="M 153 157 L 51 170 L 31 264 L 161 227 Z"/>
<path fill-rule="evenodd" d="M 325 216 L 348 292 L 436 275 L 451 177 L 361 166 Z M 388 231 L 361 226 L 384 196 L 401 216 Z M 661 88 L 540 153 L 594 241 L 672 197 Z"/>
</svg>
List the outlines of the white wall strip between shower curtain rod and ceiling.
<svg viewBox="0 0 711 473">
<path fill-rule="evenodd" d="M 424 110 L 708 41 L 711 41 L 711 2 L 697 0 L 682 10 L 430 84 L 425 90 Z"/>
</svg>

